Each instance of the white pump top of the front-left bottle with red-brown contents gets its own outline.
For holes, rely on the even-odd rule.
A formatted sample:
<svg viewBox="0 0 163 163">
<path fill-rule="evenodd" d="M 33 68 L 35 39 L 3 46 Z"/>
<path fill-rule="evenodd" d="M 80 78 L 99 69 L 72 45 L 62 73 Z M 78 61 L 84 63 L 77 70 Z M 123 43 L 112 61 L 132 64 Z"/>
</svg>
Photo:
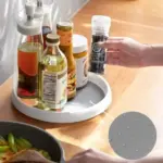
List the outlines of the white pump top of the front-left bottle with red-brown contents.
<svg viewBox="0 0 163 163">
<path fill-rule="evenodd" d="M 25 4 L 25 17 L 17 22 L 17 30 L 23 35 L 39 35 L 41 33 L 41 22 L 34 20 L 35 5 L 32 2 Z"/>
</svg>

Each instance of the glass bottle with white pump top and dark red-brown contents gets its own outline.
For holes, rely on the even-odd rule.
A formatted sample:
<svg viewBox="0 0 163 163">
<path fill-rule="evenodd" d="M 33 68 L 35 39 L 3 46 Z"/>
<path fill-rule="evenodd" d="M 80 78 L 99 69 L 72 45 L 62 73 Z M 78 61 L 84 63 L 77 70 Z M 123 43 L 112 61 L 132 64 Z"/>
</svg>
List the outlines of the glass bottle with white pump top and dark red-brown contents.
<svg viewBox="0 0 163 163">
<path fill-rule="evenodd" d="M 35 5 L 32 2 L 25 4 L 25 17 L 17 20 L 17 32 L 21 34 L 17 47 L 17 96 L 37 99 L 38 63 L 42 53 L 41 22 L 34 18 Z"/>
</svg>

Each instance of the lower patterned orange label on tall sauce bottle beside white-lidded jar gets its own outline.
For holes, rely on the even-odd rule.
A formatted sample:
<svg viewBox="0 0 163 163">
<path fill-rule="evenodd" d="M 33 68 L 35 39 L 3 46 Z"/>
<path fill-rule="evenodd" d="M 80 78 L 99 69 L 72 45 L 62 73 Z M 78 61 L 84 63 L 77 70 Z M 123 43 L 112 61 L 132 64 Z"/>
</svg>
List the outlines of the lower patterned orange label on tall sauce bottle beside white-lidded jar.
<svg viewBox="0 0 163 163">
<path fill-rule="evenodd" d="M 68 99 L 74 98 L 76 95 L 76 71 L 68 71 L 68 79 L 67 79 L 67 96 Z"/>
</svg>

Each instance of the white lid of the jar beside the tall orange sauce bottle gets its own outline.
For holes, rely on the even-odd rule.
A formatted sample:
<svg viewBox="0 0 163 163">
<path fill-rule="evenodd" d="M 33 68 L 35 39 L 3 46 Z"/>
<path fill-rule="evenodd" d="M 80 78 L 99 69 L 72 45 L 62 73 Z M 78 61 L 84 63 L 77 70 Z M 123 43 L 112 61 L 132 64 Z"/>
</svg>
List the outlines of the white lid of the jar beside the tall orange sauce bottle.
<svg viewBox="0 0 163 163">
<path fill-rule="evenodd" d="M 88 40 L 82 35 L 73 35 L 73 53 L 80 53 L 88 50 Z"/>
</svg>

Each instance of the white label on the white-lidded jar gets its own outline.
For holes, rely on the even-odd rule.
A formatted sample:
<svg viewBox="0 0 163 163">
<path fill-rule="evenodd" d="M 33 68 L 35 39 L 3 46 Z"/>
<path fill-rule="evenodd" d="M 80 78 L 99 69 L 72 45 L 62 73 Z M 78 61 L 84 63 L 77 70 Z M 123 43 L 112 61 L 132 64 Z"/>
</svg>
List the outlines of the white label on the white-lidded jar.
<svg viewBox="0 0 163 163">
<path fill-rule="evenodd" d="M 77 78 L 77 88 L 80 88 L 88 83 L 87 57 L 76 59 L 76 78 Z"/>
</svg>

